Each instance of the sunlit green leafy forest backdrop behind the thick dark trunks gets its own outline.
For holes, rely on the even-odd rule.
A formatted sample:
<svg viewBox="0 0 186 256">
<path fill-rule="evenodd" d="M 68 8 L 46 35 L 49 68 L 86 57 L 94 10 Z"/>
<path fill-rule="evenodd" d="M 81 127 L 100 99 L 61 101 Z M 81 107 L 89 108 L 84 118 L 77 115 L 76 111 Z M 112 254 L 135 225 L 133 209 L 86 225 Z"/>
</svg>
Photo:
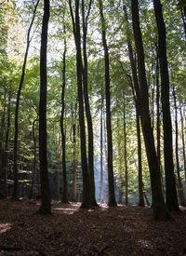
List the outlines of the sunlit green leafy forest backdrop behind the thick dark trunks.
<svg viewBox="0 0 186 256">
<path fill-rule="evenodd" d="M 49 1 L 44 2 L 46 5 Z M 15 183 L 18 183 L 18 197 L 28 195 L 36 199 L 41 196 L 40 53 L 44 2 L 5 0 L 0 3 L 2 196 L 15 195 Z M 97 202 L 109 201 L 114 205 L 115 196 L 120 204 L 152 203 L 150 163 L 143 140 L 144 129 L 140 128 L 140 121 L 142 124 L 145 122 L 143 117 L 140 120 L 143 115 L 139 114 L 138 108 L 143 92 L 144 101 L 147 98 L 149 101 L 145 104 L 151 118 L 162 193 L 164 198 L 167 197 L 164 158 L 166 121 L 163 120 L 164 83 L 159 40 L 162 37 L 158 35 L 154 12 L 155 2 L 159 1 L 140 0 L 138 3 L 148 89 L 147 97 L 140 85 L 141 99 L 135 88 L 133 69 L 136 67 L 137 71 L 138 68 L 140 77 L 139 60 L 142 59 L 138 42 L 135 42 L 135 16 L 131 8 L 131 3 L 135 5 L 135 2 L 138 3 L 120 0 L 50 1 L 46 154 L 52 200 L 65 201 L 67 193 L 66 201 L 82 201 L 86 182 L 91 188 L 94 187 L 92 179 L 86 178 L 85 169 L 88 167 L 89 176 L 93 170 Z M 168 101 L 172 121 L 170 136 L 173 139 L 173 155 L 169 157 L 174 161 L 173 180 L 179 204 L 185 206 L 186 4 L 177 0 L 161 2 L 166 25 Z M 81 56 L 78 57 L 78 54 Z M 80 85 L 83 85 L 82 91 Z M 83 93 L 82 101 L 80 92 Z M 166 111 L 168 113 L 168 109 Z M 108 135 L 110 131 L 112 137 Z M 86 168 L 83 156 L 87 159 Z M 111 195 L 112 185 L 114 195 Z M 90 189 L 90 196 L 93 194 L 94 189 Z"/>
</svg>

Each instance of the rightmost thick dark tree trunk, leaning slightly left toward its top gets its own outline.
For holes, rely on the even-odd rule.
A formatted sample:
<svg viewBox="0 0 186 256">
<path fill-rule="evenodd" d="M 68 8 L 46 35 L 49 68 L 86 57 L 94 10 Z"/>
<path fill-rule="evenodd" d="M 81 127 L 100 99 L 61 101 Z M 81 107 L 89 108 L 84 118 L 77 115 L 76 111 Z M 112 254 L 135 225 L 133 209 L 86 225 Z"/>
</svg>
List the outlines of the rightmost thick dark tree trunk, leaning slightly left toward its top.
<svg viewBox="0 0 186 256">
<path fill-rule="evenodd" d="M 164 161 L 166 170 L 166 207 L 169 210 L 179 210 L 176 182 L 174 176 L 172 124 L 169 103 L 169 77 L 166 59 L 166 26 L 160 0 L 153 0 L 155 19 L 158 30 L 158 49 L 161 74 L 161 101 L 164 128 Z"/>
</svg>

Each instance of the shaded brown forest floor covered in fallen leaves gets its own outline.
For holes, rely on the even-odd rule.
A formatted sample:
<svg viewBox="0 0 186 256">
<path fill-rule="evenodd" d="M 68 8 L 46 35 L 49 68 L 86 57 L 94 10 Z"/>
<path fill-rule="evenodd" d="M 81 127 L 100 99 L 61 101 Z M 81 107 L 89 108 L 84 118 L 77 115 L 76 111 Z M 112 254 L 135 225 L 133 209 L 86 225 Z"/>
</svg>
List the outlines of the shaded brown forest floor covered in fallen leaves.
<svg viewBox="0 0 186 256">
<path fill-rule="evenodd" d="M 154 222 L 150 208 L 79 206 L 53 203 L 42 216 L 38 203 L 0 200 L 0 255 L 186 255 L 186 209 Z"/>
</svg>

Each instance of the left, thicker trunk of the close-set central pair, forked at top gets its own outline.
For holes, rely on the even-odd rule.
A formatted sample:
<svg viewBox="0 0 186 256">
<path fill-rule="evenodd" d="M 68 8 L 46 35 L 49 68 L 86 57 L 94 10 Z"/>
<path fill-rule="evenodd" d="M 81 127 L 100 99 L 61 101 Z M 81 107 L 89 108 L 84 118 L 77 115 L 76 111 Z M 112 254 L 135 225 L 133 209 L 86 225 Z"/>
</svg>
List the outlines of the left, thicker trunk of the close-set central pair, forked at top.
<svg viewBox="0 0 186 256">
<path fill-rule="evenodd" d="M 77 94 L 79 101 L 79 125 L 80 125 L 80 139 L 81 139 L 81 163 L 83 174 L 83 195 L 81 208 L 90 208 L 90 187 L 89 187 L 89 175 L 86 159 L 86 128 L 84 118 L 84 101 L 83 101 L 83 89 L 82 89 L 82 74 L 83 63 L 81 55 L 81 34 L 79 23 L 79 0 L 75 0 L 75 20 L 73 18 L 73 7 L 71 0 L 69 0 L 69 6 L 71 10 L 71 16 L 73 20 L 73 35 L 76 45 L 76 70 L 77 70 Z"/>
</svg>

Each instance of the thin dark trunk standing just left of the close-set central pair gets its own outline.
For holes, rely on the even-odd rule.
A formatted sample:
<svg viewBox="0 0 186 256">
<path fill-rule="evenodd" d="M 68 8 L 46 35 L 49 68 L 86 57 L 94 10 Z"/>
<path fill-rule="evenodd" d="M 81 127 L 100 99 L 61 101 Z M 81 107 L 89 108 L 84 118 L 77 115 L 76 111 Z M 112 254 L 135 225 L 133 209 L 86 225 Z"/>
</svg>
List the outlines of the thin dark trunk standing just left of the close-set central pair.
<svg viewBox="0 0 186 256">
<path fill-rule="evenodd" d="M 64 34 L 65 34 L 65 24 L 64 24 Z M 62 92 L 61 92 L 61 114 L 60 114 L 60 132 L 62 139 L 62 176 L 63 176 L 63 193 L 62 193 L 62 203 L 69 204 L 68 199 L 68 188 L 67 188 L 67 171 L 66 171 L 66 134 L 64 128 L 64 112 L 65 112 L 65 102 L 64 102 L 64 92 L 66 86 L 66 51 L 67 42 L 64 39 L 64 52 L 63 52 L 63 70 L 62 70 Z"/>
</svg>

